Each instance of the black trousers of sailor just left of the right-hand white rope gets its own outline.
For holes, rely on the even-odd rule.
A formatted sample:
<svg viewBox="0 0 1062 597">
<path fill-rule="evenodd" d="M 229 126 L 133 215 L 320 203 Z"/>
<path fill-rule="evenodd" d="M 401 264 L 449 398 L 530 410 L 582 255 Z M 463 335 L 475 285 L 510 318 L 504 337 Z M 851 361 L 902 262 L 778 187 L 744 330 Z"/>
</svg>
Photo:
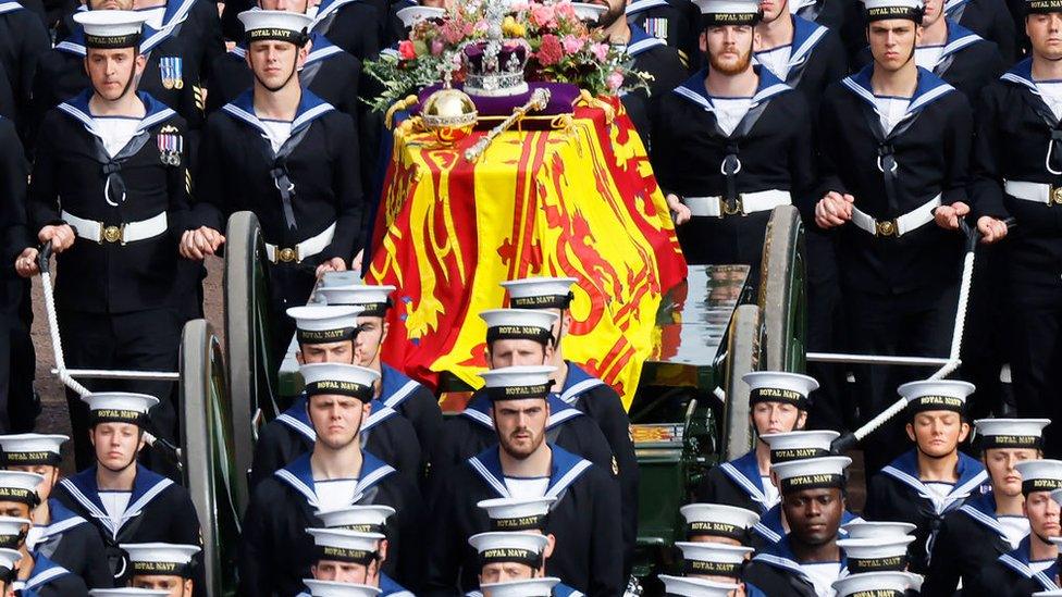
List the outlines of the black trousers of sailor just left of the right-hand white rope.
<svg viewBox="0 0 1062 597">
<path fill-rule="evenodd" d="M 951 348 L 958 298 L 958 283 L 891 295 L 845 288 L 849 344 L 859 355 L 944 358 Z M 896 402 L 901 384 L 925 380 L 936 369 L 853 365 L 852 370 L 863 424 Z M 903 413 L 898 414 L 863 440 L 867 477 L 910 449 L 905 423 Z"/>
</svg>

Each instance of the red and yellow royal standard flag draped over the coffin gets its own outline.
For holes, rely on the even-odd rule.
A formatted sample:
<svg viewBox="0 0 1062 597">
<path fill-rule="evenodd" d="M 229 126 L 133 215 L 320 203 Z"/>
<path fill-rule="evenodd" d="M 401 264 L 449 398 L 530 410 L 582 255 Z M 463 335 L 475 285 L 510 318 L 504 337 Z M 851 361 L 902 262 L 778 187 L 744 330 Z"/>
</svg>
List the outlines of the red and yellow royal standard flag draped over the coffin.
<svg viewBox="0 0 1062 597">
<path fill-rule="evenodd" d="M 686 262 L 621 109 L 582 105 L 551 121 L 503 133 L 476 162 L 464 152 L 482 133 L 442 147 L 410 121 L 396 127 L 367 272 L 398 287 L 383 358 L 433 387 L 443 372 L 476 387 L 485 368 L 479 313 L 505 304 L 498 284 L 570 276 L 565 357 L 629 406 L 662 295 Z"/>
</svg>

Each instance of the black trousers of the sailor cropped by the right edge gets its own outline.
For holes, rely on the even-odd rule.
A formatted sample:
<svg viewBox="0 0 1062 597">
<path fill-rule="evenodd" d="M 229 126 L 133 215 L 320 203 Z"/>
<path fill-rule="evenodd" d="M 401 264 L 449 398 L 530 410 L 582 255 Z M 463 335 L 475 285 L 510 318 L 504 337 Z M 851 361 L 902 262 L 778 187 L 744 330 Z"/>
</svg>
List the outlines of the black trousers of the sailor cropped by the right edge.
<svg viewBox="0 0 1062 597">
<path fill-rule="evenodd" d="M 1017 414 L 1054 421 L 1044 430 L 1045 457 L 1062 457 L 1062 281 L 1010 281 L 1005 324 Z"/>
</svg>

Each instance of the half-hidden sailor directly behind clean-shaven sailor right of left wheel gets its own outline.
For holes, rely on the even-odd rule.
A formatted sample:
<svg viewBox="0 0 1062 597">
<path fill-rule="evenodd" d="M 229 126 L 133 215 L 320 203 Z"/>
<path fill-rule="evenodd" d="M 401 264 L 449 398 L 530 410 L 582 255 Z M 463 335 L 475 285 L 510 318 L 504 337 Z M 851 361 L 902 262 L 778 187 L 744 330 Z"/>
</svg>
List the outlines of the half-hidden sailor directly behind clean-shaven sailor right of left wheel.
<svg viewBox="0 0 1062 597">
<path fill-rule="evenodd" d="M 359 335 L 356 316 L 360 309 L 322 304 L 288 309 L 287 315 L 296 322 L 295 337 L 299 347 L 296 361 L 299 364 L 354 364 L 355 341 Z M 306 393 L 299 394 L 291 407 L 259 432 L 251 460 L 251 487 L 313 449 L 317 434 L 308 402 Z M 423 477 L 423 467 L 412 424 L 381 400 L 373 399 L 371 407 L 369 418 L 361 424 L 362 447 L 419 482 Z"/>
</svg>

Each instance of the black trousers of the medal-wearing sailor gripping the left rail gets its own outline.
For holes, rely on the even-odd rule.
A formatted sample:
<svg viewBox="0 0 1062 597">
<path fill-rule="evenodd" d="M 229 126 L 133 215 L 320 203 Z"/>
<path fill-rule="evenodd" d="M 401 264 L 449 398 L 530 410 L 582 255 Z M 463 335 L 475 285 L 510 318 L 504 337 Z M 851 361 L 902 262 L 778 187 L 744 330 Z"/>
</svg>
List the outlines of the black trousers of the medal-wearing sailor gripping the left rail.
<svg viewBox="0 0 1062 597">
<path fill-rule="evenodd" d="M 181 331 L 185 316 L 176 308 L 159 308 L 131 313 L 107 314 L 59 311 L 59 333 L 69 369 L 113 369 L 132 371 L 177 371 Z M 133 391 L 159 399 L 151 411 L 151 431 L 174 445 L 180 444 L 176 384 L 140 380 L 78 380 L 92 391 Z M 88 406 L 73 391 L 66 393 L 73 430 L 77 470 L 95 462 L 88 436 Z M 176 469 L 148 450 L 149 467 L 173 475 Z"/>
</svg>

